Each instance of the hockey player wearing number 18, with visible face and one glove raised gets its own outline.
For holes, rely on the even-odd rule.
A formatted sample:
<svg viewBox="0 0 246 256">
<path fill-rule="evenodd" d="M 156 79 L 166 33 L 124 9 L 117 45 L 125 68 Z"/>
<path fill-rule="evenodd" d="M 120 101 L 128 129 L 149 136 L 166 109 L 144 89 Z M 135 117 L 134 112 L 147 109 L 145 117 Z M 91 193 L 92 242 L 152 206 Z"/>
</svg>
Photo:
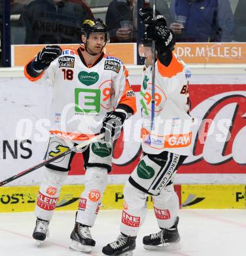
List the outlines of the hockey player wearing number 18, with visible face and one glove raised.
<svg viewBox="0 0 246 256">
<path fill-rule="evenodd" d="M 89 252 L 96 244 L 90 227 L 94 225 L 107 185 L 107 173 L 111 171 L 112 142 L 120 136 L 125 119 L 135 113 L 136 106 L 124 64 L 103 53 L 108 39 L 103 21 L 85 20 L 81 39 L 83 45 L 76 51 L 61 51 L 57 45 L 45 47 L 26 65 L 24 72 L 30 81 L 53 87 L 52 127 L 46 158 L 81 140 L 105 133 L 105 139 L 82 150 L 86 169 L 84 191 L 79 199 L 70 247 Z M 33 238 L 39 242 L 48 236 L 48 224 L 73 156 L 68 154 L 44 167 L 33 232 Z"/>
</svg>

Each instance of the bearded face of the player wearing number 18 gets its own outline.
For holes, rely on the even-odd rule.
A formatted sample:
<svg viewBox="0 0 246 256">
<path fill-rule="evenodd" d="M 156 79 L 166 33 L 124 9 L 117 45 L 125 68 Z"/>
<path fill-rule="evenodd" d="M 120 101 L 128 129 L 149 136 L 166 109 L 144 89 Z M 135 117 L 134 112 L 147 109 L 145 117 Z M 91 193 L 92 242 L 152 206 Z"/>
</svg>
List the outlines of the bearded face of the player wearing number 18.
<svg viewBox="0 0 246 256">
<path fill-rule="evenodd" d="M 90 33 L 86 47 L 90 53 L 99 54 L 105 43 L 105 33 Z"/>
</svg>

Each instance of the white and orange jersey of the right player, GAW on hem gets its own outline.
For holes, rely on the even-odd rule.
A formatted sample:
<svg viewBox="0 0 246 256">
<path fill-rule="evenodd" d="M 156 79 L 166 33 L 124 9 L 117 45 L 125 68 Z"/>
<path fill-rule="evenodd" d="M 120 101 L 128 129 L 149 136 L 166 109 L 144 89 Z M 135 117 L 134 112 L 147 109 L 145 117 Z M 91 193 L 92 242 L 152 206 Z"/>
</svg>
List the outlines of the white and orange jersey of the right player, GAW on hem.
<svg viewBox="0 0 246 256">
<path fill-rule="evenodd" d="M 188 81 L 190 70 L 173 53 L 169 66 L 156 61 L 154 127 L 151 131 L 152 67 L 145 69 L 141 86 L 143 124 L 142 148 L 148 154 L 163 151 L 191 154 L 192 122 L 189 115 Z"/>
</svg>

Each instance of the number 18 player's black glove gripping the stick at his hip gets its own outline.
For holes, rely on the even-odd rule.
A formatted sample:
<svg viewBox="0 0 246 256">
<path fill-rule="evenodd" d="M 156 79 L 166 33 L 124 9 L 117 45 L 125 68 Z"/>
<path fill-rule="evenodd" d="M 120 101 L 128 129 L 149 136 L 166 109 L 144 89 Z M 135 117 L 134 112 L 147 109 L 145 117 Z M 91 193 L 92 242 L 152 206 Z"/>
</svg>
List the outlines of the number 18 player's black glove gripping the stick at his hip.
<svg viewBox="0 0 246 256">
<path fill-rule="evenodd" d="M 108 112 L 103 119 L 103 127 L 101 133 L 105 133 L 105 141 L 110 142 L 111 139 L 118 139 L 124 121 L 126 120 L 126 114 L 123 112 L 111 111 Z"/>
</svg>

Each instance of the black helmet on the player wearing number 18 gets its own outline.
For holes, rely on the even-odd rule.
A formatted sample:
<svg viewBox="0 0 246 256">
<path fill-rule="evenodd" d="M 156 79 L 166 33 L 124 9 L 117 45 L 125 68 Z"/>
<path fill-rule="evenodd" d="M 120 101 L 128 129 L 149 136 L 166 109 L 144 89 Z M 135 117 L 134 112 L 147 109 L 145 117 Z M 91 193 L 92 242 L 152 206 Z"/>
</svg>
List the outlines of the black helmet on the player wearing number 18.
<svg viewBox="0 0 246 256">
<path fill-rule="evenodd" d="M 92 18 L 84 20 L 80 32 L 86 38 L 89 38 L 90 33 L 105 33 L 105 43 L 109 43 L 109 33 L 107 26 L 100 18 Z"/>
</svg>

